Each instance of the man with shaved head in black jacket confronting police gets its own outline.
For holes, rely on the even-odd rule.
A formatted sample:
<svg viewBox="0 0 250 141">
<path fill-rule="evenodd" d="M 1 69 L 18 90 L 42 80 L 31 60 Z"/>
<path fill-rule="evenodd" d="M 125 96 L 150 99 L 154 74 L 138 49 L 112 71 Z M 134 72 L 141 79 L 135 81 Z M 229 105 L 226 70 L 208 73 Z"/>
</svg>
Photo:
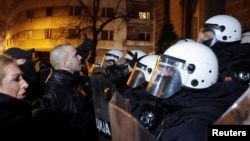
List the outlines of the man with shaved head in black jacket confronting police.
<svg viewBox="0 0 250 141">
<path fill-rule="evenodd" d="M 71 44 L 60 44 L 50 52 L 53 71 L 42 97 L 44 110 L 36 116 L 52 129 L 55 139 L 97 140 L 93 105 L 84 91 L 78 91 L 74 75 L 81 70 L 81 59 Z"/>
</svg>

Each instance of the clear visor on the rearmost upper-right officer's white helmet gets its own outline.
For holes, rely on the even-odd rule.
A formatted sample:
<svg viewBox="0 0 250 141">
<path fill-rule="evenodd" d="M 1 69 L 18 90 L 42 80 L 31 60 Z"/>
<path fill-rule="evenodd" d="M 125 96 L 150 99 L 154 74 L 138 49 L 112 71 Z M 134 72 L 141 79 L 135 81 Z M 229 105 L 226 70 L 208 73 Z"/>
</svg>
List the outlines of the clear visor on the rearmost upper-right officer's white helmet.
<svg viewBox="0 0 250 141">
<path fill-rule="evenodd" d="M 205 24 L 204 28 L 200 30 L 197 42 L 202 43 L 208 47 L 212 47 L 217 43 L 216 35 L 225 30 L 224 26 L 218 26 L 216 24 Z"/>
</svg>

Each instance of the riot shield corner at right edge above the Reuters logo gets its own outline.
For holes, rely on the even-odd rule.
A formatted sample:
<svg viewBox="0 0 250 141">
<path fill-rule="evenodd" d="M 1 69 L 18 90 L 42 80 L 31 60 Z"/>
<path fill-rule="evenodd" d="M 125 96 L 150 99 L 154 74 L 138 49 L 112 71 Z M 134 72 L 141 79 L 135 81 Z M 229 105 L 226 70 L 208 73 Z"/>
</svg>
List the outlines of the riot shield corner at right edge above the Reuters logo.
<svg viewBox="0 0 250 141">
<path fill-rule="evenodd" d="M 250 88 L 229 107 L 214 123 L 215 125 L 249 125 L 250 124 Z"/>
</svg>

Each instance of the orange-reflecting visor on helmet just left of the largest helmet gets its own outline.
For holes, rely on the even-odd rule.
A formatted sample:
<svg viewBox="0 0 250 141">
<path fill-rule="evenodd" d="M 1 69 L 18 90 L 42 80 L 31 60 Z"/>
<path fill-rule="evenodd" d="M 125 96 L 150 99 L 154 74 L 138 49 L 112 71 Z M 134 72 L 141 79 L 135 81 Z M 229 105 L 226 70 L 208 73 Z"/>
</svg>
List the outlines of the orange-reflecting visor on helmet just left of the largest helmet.
<svg viewBox="0 0 250 141">
<path fill-rule="evenodd" d="M 127 85 L 130 86 L 131 88 L 136 88 L 145 83 L 146 82 L 145 75 L 142 72 L 142 70 L 145 69 L 146 69 L 145 65 L 137 63 L 129 76 Z"/>
</svg>

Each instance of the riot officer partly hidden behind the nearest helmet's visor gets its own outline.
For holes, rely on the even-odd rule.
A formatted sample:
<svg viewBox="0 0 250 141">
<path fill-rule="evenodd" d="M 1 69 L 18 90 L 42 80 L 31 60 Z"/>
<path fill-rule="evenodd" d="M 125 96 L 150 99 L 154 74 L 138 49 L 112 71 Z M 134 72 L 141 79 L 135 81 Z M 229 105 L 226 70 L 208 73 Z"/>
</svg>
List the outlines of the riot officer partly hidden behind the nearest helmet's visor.
<svg viewBox="0 0 250 141">
<path fill-rule="evenodd" d="M 131 114 L 148 130 L 156 128 L 160 121 L 161 108 L 157 98 L 146 92 L 146 87 L 153 74 L 159 55 L 142 57 L 133 68 L 127 81 L 126 89 L 121 93 L 129 99 Z"/>
</svg>

